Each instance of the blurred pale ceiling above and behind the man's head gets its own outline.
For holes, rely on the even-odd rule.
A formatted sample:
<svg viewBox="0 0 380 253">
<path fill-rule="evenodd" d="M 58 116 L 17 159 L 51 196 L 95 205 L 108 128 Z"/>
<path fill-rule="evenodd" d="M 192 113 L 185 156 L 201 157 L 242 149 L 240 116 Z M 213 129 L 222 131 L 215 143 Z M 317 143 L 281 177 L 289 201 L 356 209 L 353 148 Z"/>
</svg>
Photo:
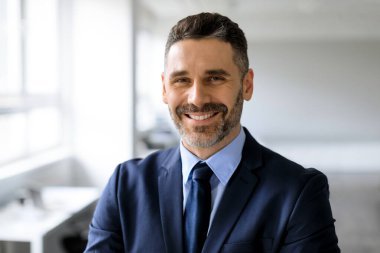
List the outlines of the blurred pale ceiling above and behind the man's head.
<svg viewBox="0 0 380 253">
<path fill-rule="evenodd" d="M 380 39 L 380 0 L 141 0 L 140 27 L 166 33 L 179 19 L 219 12 L 248 40 Z"/>
</svg>

